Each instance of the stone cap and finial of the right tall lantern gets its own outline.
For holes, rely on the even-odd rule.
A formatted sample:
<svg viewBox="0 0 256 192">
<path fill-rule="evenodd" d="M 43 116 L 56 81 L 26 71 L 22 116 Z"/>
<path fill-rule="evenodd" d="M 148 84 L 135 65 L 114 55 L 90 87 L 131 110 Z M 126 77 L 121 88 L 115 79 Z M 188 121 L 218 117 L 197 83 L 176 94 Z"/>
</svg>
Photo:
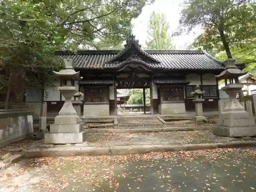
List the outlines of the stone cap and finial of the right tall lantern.
<svg viewBox="0 0 256 192">
<path fill-rule="evenodd" d="M 225 78 L 225 79 L 233 79 L 238 78 L 241 75 L 244 75 L 243 71 L 237 68 L 237 66 L 234 64 L 236 60 L 235 59 L 227 59 L 224 62 L 225 69 L 223 72 L 221 72 L 220 75 L 216 75 L 217 78 Z"/>
</svg>

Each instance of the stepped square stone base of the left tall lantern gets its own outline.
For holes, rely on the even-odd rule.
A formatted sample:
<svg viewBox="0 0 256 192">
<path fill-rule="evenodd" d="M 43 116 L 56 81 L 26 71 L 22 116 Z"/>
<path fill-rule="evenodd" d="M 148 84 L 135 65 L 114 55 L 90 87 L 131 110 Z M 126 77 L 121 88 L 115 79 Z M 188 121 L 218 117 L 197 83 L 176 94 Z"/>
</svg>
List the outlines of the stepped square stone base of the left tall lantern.
<svg viewBox="0 0 256 192">
<path fill-rule="evenodd" d="M 45 134 L 45 143 L 82 143 L 85 140 L 83 123 L 76 115 L 56 116 L 50 125 L 50 133 Z"/>
</svg>

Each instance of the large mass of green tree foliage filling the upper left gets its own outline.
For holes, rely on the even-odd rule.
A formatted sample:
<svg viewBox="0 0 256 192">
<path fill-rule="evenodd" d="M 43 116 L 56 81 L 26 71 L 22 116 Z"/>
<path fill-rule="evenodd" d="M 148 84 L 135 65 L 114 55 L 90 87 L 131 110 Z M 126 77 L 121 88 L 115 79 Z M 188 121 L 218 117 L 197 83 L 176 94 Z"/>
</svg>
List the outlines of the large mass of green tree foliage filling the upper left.
<svg viewBox="0 0 256 192">
<path fill-rule="evenodd" d="M 51 85 L 52 70 L 61 67 L 56 50 L 119 46 L 131 33 L 132 19 L 151 2 L 2 0 L 0 93 L 22 98 L 28 86 Z"/>
</svg>

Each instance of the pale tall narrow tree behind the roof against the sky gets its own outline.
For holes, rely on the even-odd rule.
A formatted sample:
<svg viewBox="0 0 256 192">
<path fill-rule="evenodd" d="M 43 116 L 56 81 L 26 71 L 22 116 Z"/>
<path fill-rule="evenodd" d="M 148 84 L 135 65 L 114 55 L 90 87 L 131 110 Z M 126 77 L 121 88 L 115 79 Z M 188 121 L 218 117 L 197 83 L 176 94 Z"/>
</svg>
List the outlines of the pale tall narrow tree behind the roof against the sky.
<svg viewBox="0 0 256 192">
<path fill-rule="evenodd" d="M 153 50 L 175 49 L 168 30 L 169 24 L 166 15 L 153 11 L 148 22 L 147 34 L 150 38 L 146 41 L 146 48 Z"/>
</svg>

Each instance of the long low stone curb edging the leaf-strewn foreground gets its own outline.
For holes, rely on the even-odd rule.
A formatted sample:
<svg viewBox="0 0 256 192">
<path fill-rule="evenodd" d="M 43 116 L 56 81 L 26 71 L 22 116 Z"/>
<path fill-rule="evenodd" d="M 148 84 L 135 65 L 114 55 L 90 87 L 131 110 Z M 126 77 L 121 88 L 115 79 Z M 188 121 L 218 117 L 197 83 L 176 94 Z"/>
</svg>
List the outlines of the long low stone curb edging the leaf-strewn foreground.
<svg viewBox="0 0 256 192">
<path fill-rule="evenodd" d="M 56 157 L 56 156 L 89 156 L 89 155 L 125 155 L 148 152 L 170 152 L 170 151 L 192 151 L 207 150 L 214 148 L 249 147 L 256 146 L 255 141 L 231 141 L 223 143 L 203 144 L 155 144 L 155 145 L 127 145 L 110 147 L 74 147 L 74 148 L 46 148 L 28 150 L 24 152 L 25 157 Z"/>
</svg>

